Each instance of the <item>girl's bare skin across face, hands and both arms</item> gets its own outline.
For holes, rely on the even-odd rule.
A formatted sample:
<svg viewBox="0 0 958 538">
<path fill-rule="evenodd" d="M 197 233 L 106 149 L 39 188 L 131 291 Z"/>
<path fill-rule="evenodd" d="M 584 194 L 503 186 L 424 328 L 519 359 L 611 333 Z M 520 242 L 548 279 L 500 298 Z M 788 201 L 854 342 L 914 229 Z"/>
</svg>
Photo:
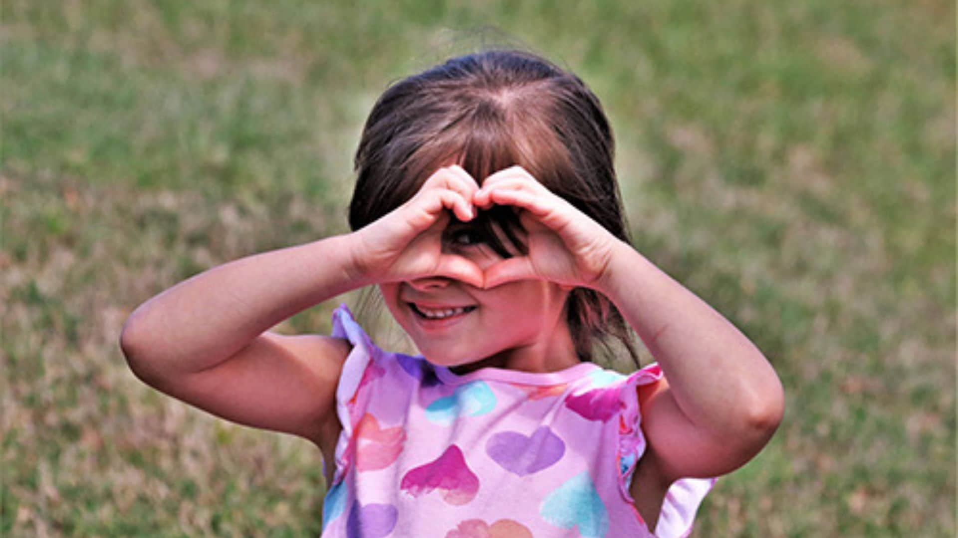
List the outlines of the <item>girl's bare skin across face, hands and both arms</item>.
<svg viewBox="0 0 958 538">
<path fill-rule="evenodd" d="M 131 368 L 183 401 L 308 438 L 331 455 L 341 433 L 331 396 L 349 343 L 268 327 L 319 298 L 378 284 L 436 364 L 457 373 L 565 370 L 579 359 L 563 306 L 570 290 L 585 287 L 615 304 L 664 373 L 636 392 L 648 446 L 629 493 L 650 528 L 676 479 L 723 475 L 762 449 L 782 420 L 784 393 L 735 325 L 527 170 L 481 181 L 461 167 L 438 169 L 399 208 L 350 235 L 242 258 L 177 284 L 127 321 L 121 347 Z M 517 211 L 527 254 L 500 258 L 468 234 L 477 212 L 493 205 Z M 427 328 L 407 302 L 476 308 Z"/>
</svg>

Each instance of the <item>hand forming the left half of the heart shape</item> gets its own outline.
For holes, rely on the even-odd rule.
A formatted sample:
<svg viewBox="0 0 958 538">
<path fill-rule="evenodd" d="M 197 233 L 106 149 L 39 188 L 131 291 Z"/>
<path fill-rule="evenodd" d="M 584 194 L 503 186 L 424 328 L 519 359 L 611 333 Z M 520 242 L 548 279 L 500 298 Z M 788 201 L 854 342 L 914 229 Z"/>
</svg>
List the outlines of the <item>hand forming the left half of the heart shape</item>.
<svg viewBox="0 0 958 538">
<path fill-rule="evenodd" d="M 458 165 L 436 170 L 412 198 L 351 234 L 357 279 L 380 283 L 448 277 L 483 287 L 478 265 L 443 249 L 449 212 L 463 222 L 472 220 L 476 208 L 471 200 L 478 190 L 475 179 Z"/>
</svg>

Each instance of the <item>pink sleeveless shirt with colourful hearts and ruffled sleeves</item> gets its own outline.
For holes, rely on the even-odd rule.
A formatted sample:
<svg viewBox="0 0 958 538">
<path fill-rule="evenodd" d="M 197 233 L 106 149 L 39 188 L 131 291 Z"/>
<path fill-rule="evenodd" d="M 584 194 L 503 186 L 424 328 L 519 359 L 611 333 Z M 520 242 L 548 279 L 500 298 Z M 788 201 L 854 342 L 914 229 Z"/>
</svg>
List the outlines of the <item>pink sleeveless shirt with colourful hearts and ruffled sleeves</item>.
<svg viewBox="0 0 958 538">
<path fill-rule="evenodd" d="M 684 536 L 715 483 L 674 482 L 654 535 L 632 503 L 646 447 L 635 388 L 662 376 L 656 364 L 457 375 L 376 347 L 345 303 L 332 325 L 354 347 L 324 537 Z"/>
</svg>

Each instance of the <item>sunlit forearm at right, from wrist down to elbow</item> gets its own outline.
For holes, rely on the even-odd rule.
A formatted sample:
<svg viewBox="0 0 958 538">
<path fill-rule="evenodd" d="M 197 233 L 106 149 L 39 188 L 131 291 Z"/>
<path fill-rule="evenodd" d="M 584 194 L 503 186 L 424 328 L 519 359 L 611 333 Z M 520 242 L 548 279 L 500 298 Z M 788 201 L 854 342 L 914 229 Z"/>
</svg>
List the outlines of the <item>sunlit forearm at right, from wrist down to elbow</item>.
<svg viewBox="0 0 958 538">
<path fill-rule="evenodd" d="M 720 436 L 777 425 L 782 386 L 762 352 L 708 303 L 627 243 L 600 289 L 662 367 L 689 420 Z"/>
</svg>

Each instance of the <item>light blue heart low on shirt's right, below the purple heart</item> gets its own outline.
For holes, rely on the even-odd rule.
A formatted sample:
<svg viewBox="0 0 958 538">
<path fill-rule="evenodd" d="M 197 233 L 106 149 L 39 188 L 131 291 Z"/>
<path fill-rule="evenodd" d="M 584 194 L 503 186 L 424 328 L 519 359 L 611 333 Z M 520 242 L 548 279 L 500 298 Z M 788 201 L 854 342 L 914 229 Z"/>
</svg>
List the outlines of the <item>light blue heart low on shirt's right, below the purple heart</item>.
<svg viewBox="0 0 958 538">
<path fill-rule="evenodd" d="M 588 471 L 550 493 L 539 507 L 539 515 L 556 527 L 579 527 L 582 536 L 599 537 L 608 531 L 608 512 Z"/>
</svg>

